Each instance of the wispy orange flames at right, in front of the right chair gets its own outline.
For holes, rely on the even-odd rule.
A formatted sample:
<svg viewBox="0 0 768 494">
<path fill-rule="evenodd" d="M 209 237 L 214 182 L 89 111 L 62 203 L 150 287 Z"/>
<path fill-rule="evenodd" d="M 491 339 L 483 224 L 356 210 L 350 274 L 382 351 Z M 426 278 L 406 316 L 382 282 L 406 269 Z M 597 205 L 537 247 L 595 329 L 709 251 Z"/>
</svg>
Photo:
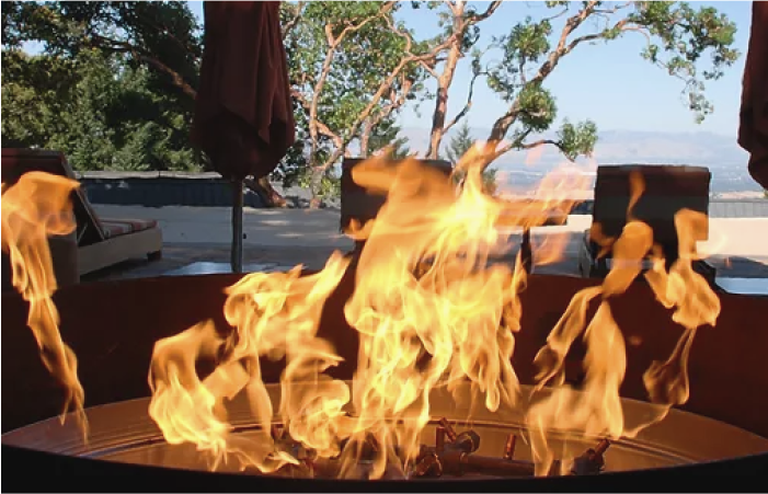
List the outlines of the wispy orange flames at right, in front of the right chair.
<svg viewBox="0 0 768 494">
<path fill-rule="evenodd" d="M 536 356 L 541 368 L 537 389 L 541 390 L 547 383 L 554 384 L 527 414 L 538 474 L 548 472 L 552 466 L 554 455 L 548 436 L 553 430 L 587 437 L 631 437 L 661 421 L 673 405 L 685 403 L 688 400 L 687 361 L 696 330 L 706 324 L 714 325 L 720 313 L 720 299 L 692 268 L 692 262 L 698 259 L 696 239 L 700 235 L 697 233 L 706 228 L 707 216 L 688 209 L 676 214 L 679 252 L 667 274 L 661 249 L 653 243 L 653 230 L 632 216 L 632 208 L 643 193 L 642 176 L 631 175 L 630 184 L 628 221 L 619 238 L 603 237 L 599 225 L 593 226 L 592 230 L 599 243 L 612 249 L 610 272 L 601 286 L 585 288 L 573 297 L 547 344 Z M 627 355 L 623 335 L 610 312 L 609 299 L 623 294 L 640 276 L 642 261 L 649 252 L 653 253 L 653 268 L 644 277 L 664 307 L 675 309 L 673 320 L 685 331 L 670 357 L 664 363 L 653 363 L 643 376 L 651 402 L 656 404 L 655 415 L 629 427 L 624 424 L 619 397 Z M 597 312 L 586 324 L 589 303 L 596 299 L 599 300 Z M 585 325 L 586 330 L 583 330 Z M 582 331 L 587 347 L 585 378 L 576 392 L 563 382 L 564 360 Z M 569 467 L 563 463 L 562 468 Z"/>
</svg>

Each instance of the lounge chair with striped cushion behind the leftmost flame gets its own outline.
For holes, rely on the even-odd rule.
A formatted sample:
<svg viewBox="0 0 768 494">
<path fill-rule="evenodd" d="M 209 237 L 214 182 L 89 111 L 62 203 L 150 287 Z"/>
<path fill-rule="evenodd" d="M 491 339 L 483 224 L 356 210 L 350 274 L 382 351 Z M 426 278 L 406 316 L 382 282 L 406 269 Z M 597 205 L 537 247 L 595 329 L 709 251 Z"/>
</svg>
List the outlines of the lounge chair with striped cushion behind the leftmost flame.
<svg viewBox="0 0 768 494">
<path fill-rule="evenodd" d="M 43 171 L 76 180 L 64 153 L 36 149 L 2 149 L 2 182 L 14 183 L 30 171 Z M 72 195 L 77 219 L 78 276 L 137 257 L 162 255 L 162 232 L 152 219 L 100 218 L 84 191 Z M 56 262 L 55 262 L 56 264 Z"/>
</svg>

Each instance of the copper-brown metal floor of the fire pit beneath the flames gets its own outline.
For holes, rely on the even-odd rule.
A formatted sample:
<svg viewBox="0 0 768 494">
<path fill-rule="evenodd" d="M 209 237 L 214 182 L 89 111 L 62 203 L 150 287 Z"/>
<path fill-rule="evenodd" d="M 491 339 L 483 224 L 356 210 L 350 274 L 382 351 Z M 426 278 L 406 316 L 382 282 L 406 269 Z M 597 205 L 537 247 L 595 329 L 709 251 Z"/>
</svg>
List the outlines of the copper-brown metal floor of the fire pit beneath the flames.
<svg viewBox="0 0 768 494">
<path fill-rule="evenodd" d="M 268 387 L 273 400 L 279 399 L 278 387 Z M 471 391 L 463 387 L 459 391 L 458 403 L 468 403 Z M 525 404 L 514 410 L 490 413 L 472 413 L 471 424 L 465 422 L 470 414 L 467 406 L 457 404 L 456 395 L 437 392 L 433 395 L 432 410 L 444 417 L 431 421 L 422 434 L 422 452 L 405 469 L 391 466 L 385 480 L 516 480 L 534 476 L 530 448 L 525 440 Z M 649 413 L 649 405 L 634 400 L 624 400 L 624 416 L 632 421 Z M 82 443 L 77 422 L 70 420 L 61 425 L 56 418 L 22 427 L 3 435 L 3 447 L 25 448 L 55 456 L 80 459 L 82 468 L 126 470 L 136 467 L 162 467 L 187 469 L 200 472 L 210 469 L 209 458 L 191 445 L 173 446 L 165 443 L 157 425 L 147 414 L 149 400 L 138 399 L 112 403 L 88 411 L 91 424 L 90 440 Z M 244 400 L 236 400 L 228 407 L 229 418 L 236 434 L 242 440 L 259 441 L 259 426 L 252 422 Z M 342 469 L 340 459 L 318 459 L 311 450 L 303 449 L 290 440 L 279 424 L 272 430 L 279 447 L 302 459 L 297 466 L 286 466 L 273 476 L 336 479 Z M 557 439 L 555 439 L 557 441 Z M 569 441 L 568 448 L 555 445 L 555 449 L 571 450 L 575 461 L 565 475 L 605 474 L 610 472 L 645 471 L 647 475 L 658 474 L 669 467 L 707 470 L 717 464 L 703 462 L 722 461 L 734 457 L 748 457 L 768 450 L 768 439 L 747 433 L 737 427 L 694 415 L 673 411 L 658 426 L 645 429 L 632 439 L 611 444 L 603 439 L 589 443 Z M 374 440 L 366 447 L 375 449 Z M 367 451 L 362 451 L 356 469 L 360 478 L 366 476 L 370 460 Z M 5 460 L 3 460 L 5 461 Z M 733 468 L 748 469 L 748 460 L 733 462 Z M 106 462 L 114 463 L 106 466 Z M 87 466 L 85 463 L 92 463 Z M 725 461 L 723 464 L 726 464 Z M 558 463 L 555 463 L 558 464 Z M 698 466 L 697 466 L 698 464 Z M 3 466 L 5 467 L 5 466 Z M 559 467 L 559 464 L 558 464 Z M 218 473 L 238 473 L 239 462 L 221 464 Z M 139 470 L 140 471 L 140 470 Z M 3 470 L 5 472 L 5 470 Z M 262 476 L 254 469 L 245 469 L 244 474 Z M 558 468 L 549 476 L 559 476 Z M 259 480 L 254 479 L 254 485 Z M 289 484 L 288 484 L 289 485 Z"/>
</svg>

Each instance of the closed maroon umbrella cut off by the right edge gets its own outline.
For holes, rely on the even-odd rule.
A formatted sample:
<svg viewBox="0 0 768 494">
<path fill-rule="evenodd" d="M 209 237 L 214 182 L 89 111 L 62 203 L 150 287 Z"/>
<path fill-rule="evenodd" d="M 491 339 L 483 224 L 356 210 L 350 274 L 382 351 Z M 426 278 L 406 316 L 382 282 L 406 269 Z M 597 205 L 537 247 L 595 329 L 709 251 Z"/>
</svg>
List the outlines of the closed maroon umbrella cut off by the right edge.
<svg viewBox="0 0 768 494">
<path fill-rule="evenodd" d="M 768 188 L 768 0 L 752 4 L 738 143 L 750 154 L 749 173 Z"/>
</svg>

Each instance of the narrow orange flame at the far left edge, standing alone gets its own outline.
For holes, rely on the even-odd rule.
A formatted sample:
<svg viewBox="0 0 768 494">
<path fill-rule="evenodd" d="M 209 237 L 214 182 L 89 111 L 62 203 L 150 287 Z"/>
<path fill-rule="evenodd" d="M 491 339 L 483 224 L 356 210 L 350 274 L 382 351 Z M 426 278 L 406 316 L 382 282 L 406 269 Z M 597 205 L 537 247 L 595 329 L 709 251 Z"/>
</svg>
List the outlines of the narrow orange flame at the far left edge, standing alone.
<svg viewBox="0 0 768 494">
<path fill-rule="evenodd" d="M 85 430 L 84 391 L 72 349 L 61 340 L 59 313 L 51 299 L 57 289 L 48 238 L 76 228 L 70 196 L 79 184 L 43 172 L 23 174 L 12 186 L 2 184 L 2 250 L 10 259 L 12 284 L 30 302 L 27 325 L 37 341 L 43 364 L 65 389 L 64 421 L 74 409 Z"/>
</svg>

